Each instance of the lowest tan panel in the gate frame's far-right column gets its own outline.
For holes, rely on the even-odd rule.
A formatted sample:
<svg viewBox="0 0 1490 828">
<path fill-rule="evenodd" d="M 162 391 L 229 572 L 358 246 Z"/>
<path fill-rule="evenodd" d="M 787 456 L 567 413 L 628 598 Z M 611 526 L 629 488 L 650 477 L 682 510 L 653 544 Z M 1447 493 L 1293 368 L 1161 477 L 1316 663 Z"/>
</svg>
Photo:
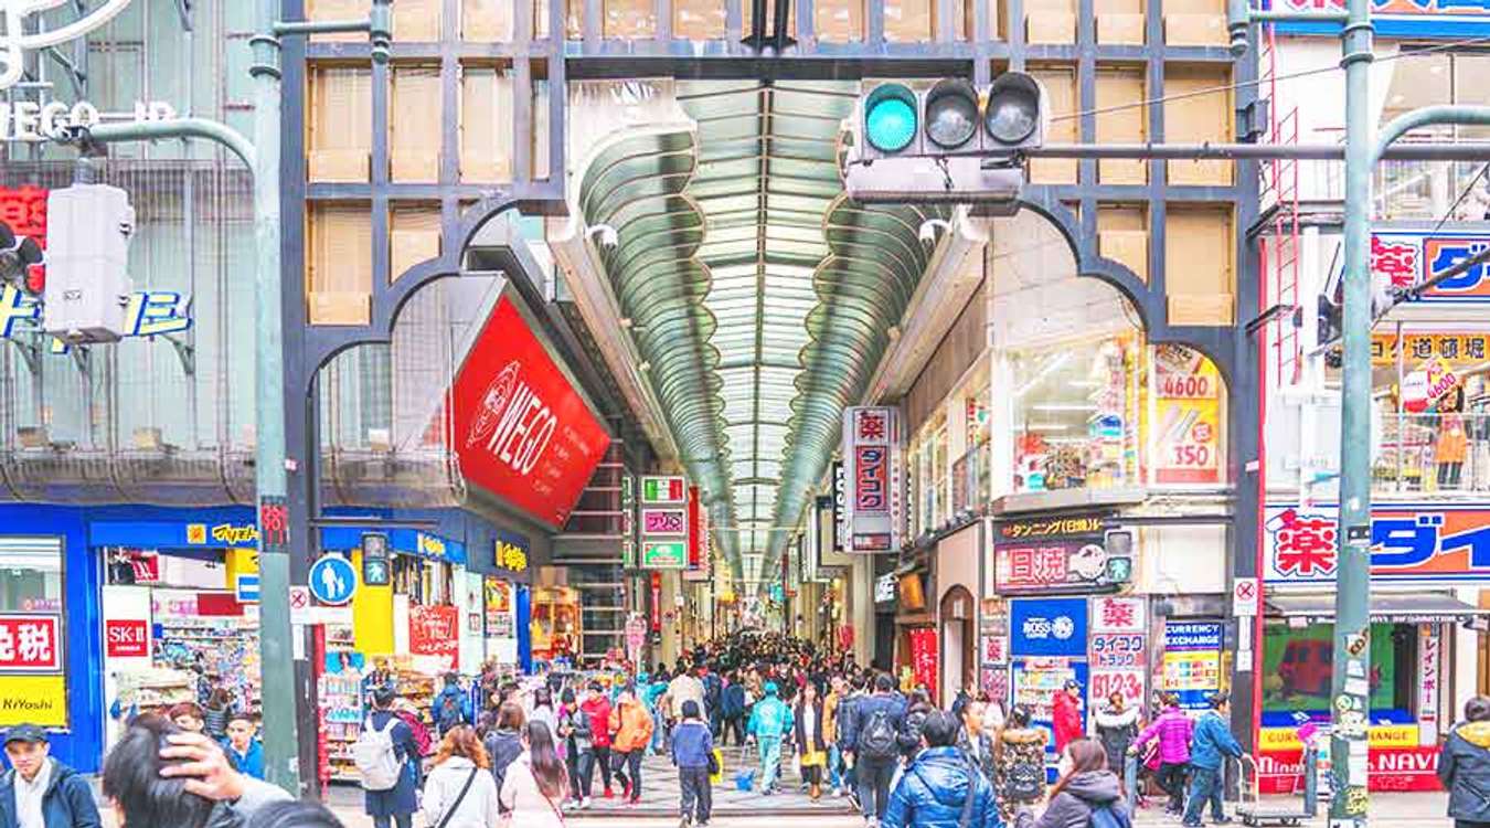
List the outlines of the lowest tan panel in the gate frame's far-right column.
<svg viewBox="0 0 1490 828">
<path fill-rule="evenodd" d="M 1235 316 L 1235 243 L 1229 207 L 1170 204 L 1165 289 L 1170 325 L 1231 325 Z"/>
</svg>

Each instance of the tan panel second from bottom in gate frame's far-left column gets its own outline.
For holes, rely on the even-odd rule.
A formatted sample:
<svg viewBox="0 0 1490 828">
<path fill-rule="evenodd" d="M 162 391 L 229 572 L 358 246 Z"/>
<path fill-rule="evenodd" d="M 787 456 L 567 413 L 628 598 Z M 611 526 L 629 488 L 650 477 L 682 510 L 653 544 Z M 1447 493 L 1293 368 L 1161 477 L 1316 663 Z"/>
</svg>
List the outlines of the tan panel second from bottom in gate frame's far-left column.
<svg viewBox="0 0 1490 828">
<path fill-rule="evenodd" d="M 372 69 L 311 66 L 305 161 L 313 182 L 367 182 L 372 170 Z"/>
</svg>

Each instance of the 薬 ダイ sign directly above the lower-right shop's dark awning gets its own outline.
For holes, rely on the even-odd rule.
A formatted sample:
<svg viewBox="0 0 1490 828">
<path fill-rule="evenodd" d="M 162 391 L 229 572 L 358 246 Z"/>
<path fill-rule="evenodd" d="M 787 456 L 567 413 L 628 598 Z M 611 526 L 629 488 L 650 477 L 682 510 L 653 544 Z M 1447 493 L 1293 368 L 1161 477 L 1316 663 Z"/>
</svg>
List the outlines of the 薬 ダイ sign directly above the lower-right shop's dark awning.
<svg viewBox="0 0 1490 828">
<path fill-rule="evenodd" d="M 1337 505 L 1266 509 L 1264 579 L 1334 582 Z M 1371 579 L 1378 582 L 1481 581 L 1490 576 L 1490 509 L 1381 503 L 1371 508 Z"/>
</svg>

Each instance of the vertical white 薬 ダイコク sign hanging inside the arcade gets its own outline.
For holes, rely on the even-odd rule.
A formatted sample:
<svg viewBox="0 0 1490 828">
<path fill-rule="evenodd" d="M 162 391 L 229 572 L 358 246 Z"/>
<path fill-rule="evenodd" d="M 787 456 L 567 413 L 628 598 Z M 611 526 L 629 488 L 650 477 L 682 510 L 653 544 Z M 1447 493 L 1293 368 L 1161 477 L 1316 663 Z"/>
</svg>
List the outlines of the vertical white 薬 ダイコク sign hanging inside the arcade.
<svg viewBox="0 0 1490 828">
<path fill-rule="evenodd" d="M 843 413 L 848 465 L 845 551 L 888 552 L 900 547 L 904 514 L 900 469 L 900 418 L 894 408 Z"/>
</svg>

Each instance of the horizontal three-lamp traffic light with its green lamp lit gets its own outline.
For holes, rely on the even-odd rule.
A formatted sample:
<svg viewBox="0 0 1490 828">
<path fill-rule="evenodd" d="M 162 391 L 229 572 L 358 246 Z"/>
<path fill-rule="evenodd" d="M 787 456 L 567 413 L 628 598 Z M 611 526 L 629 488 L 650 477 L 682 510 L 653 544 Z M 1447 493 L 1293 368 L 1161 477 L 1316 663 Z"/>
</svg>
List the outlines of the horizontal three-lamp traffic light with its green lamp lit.
<svg viewBox="0 0 1490 828">
<path fill-rule="evenodd" d="M 1022 71 L 985 91 L 966 77 L 927 88 L 873 85 L 860 101 L 843 183 L 863 203 L 970 203 L 1012 213 L 1024 152 L 1044 141 L 1044 89 Z"/>
</svg>

